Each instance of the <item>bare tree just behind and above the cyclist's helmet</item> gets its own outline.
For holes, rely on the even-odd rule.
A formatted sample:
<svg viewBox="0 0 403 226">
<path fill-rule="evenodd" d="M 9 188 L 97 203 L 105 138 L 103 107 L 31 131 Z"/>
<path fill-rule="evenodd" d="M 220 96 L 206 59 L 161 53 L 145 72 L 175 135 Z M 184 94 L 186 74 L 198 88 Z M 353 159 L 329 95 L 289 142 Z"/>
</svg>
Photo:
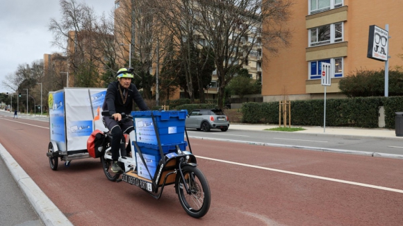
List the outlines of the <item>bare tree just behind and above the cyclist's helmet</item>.
<svg viewBox="0 0 403 226">
<path fill-rule="evenodd" d="M 163 63 L 167 36 L 153 10 L 153 1 L 120 1 L 115 10 L 115 37 L 122 44 L 122 53 L 131 52 L 131 66 L 135 69 L 135 84 L 145 98 L 151 98 L 156 72 Z M 131 51 L 130 51 L 131 49 Z M 120 62 L 128 62 L 121 54 Z"/>
</svg>

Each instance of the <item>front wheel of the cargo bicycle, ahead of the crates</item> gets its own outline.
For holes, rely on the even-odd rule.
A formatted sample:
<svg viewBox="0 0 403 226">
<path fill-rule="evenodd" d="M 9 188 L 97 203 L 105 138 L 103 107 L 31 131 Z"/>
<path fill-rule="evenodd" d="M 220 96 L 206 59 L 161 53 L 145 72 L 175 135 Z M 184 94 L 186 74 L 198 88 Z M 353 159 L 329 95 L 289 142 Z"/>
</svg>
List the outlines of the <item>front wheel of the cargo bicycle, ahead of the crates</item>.
<svg viewBox="0 0 403 226">
<path fill-rule="evenodd" d="M 175 182 L 179 201 L 187 214 L 193 218 L 201 218 L 207 214 L 210 208 L 210 186 L 208 186 L 206 177 L 197 167 L 184 166 L 182 173 L 185 182 L 183 183 L 179 173 L 176 175 Z M 189 193 L 186 191 L 185 184 L 190 190 Z"/>
</svg>

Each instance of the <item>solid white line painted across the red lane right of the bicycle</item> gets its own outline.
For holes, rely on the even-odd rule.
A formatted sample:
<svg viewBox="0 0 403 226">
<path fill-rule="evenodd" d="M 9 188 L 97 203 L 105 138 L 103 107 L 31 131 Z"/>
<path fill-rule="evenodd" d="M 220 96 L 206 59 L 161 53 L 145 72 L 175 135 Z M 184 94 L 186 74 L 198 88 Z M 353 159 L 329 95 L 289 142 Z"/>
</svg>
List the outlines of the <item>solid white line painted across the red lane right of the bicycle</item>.
<svg viewBox="0 0 403 226">
<path fill-rule="evenodd" d="M 196 156 L 196 157 L 201 158 L 201 159 L 208 159 L 208 160 L 216 161 L 216 162 L 224 162 L 224 163 L 227 163 L 227 164 L 234 164 L 234 165 L 238 165 L 238 166 L 247 166 L 247 167 L 251 167 L 251 168 L 260 168 L 260 169 L 263 169 L 263 170 L 266 170 L 266 171 L 287 173 L 287 174 L 298 175 L 298 176 L 302 176 L 302 177 L 311 177 L 311 178 L 315 178 L 315 179 L 319 179 L 319 180 L 328 180 L 328 181 L 331 181 L 331 182 L 339 182 L 339 183 L 343 183 L 343 184 L 352 184 L 352 185 L 356 185 L 356 186 L 365 186 L 365 187 L 368 187 L 368 188 L 371 188 L 371 189 L 379 189 L 379 190 L 384 190 L 384 191 L 394 191 L 394 192 L 397 192 L 397 193 L 403 193 L 403 190 L 390 189 L 390 188 L 387 188 L 385 186 L 377 186 L 377 185 L 372 185 L 372 184 L 363 184 L 363 183 L 358 183 L 358 182 L 351 182 L 351 181 L 348 181 L 348 180 L 338 180 L 338 179 L 329 178 L 329 177 L 320 177 L 320 176 L 309 175 L 309 174 L 305 174 L 305 173 L 296 173 L 296 172 L 293 172 L 293 171 L 283 171 L 283 170 L 279 170 L 277 168 L 254 166 L 254 165 L 243 164 L 243 163 L 239 163 L 239 162 L 231 162 L 231 161 L 226 161 L 226 160 L 221 160 L 221 159 L 212 159 L 212 158 L 209 158 L 209 157 L 201 157 L 201 156 Z"/>
</svg>

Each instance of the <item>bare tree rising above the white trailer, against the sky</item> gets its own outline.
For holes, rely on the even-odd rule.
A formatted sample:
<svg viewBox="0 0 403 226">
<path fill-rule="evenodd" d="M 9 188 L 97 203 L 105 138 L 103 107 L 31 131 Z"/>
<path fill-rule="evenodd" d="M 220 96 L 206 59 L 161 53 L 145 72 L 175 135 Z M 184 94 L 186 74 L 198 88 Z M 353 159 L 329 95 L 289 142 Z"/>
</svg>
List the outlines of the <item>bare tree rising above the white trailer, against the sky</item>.
<svg viewBox="0 0 403 226">
<path fill-rule="evenodd" d="M 54 34 L 52 44 L 67 56 L 67 69 L 74 85 L 101 85 L 104 69 L 116 69 L 113 23 L 105 16 L 99 20 L 90 6 L 75 0 L 60 0 L 60 8 L 62 19 L 51 19 L 49 24 L 49 31 Z"/>
</svg>

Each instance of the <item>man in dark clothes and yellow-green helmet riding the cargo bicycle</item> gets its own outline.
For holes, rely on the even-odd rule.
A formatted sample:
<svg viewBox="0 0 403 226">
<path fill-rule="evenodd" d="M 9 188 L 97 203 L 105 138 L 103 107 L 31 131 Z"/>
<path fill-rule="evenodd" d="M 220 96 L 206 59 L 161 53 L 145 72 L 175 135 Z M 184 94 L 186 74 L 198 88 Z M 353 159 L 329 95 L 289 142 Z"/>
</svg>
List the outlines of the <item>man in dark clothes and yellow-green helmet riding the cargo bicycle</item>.
<svg viewBox="0 0 403 226">
<path fill-rule="evenodd" d="M 140 108 L 140 111 L 149 110 L 149 107 L 147 107 L 145 101 L 142 99 L 138 89 L 133 83 L 131 83 L 133 71 L 132 68 L 122 68 L 117 71 L 117 81 L 109 83 L 108 89 L 106 90 L 104 105 L 102 105 L 102 110 L 109 111 L 110 116 L 113 116 L 114 118 L 111 119 L 109 116 L 103 117 L 106 128 L 108 128 L 112 134 L 110 151 L 113 160 L 113 173 L 122 171 L 117 159 L 119 159 L 121 141 L 126 143 L 123 134 L 129 134 L 129 132 L 134 129 L 132 121 L 126 121 L 121 123 L 121 125 L 119 125 L 117 121 L 122 119 L 122 113 L 131 114 L 133 101 Z"/>
</svg>

